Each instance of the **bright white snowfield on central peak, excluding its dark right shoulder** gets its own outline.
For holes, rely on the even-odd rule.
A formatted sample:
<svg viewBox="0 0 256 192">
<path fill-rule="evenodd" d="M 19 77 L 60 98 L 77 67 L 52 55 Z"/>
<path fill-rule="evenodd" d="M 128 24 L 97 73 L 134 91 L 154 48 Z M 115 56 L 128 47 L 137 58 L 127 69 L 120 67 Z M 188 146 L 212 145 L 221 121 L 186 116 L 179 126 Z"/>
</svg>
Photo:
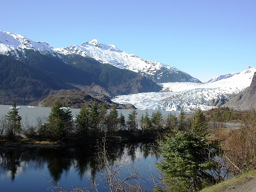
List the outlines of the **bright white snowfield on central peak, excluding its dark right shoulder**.
<svg viewBox="0 0 256 192">
<path fill-rule="evenodd" d="M 99 62 L 112 64 L 119 68 L 132 70 L 134 72 L 148 72 L 148 74 L 154 74 L 156 70 L 160 70 L 165 67 L 174 72 L 178 72 L 175 67 L 162 64 L 160 62 L 147 61 L 139 58 L 135 54 L 128 54 L 122 50 L 119 50 L 116 46 L 111 44 L 100 44 L 98 40 L 94 39 L 90 42 L 85 42 L 81 46 L 56 48 L 54 49 L 62 54 L 80 54 L 82 56 L 90 56 Z"/>
</svg>

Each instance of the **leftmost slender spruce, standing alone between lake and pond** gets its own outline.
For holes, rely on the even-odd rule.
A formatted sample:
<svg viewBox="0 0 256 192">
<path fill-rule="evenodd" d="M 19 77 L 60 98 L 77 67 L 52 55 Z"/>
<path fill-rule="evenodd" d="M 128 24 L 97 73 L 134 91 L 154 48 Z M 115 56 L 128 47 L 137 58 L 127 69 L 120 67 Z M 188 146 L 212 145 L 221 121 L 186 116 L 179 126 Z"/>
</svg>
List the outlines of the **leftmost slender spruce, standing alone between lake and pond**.
<svg viewBox="0 0 256 192">
<path fill-rule="evenodd" d="M 18 108 L 16 102 L 12 104 L 11 111 L 8 112 L 6 118 L 8 120 L 9 131 L 7 133 L 7 138 L 12 139 L 15 136 L 20 136 L 21 134 L 21 119 L 22 117 L 18 114 Z"/>
</svg>

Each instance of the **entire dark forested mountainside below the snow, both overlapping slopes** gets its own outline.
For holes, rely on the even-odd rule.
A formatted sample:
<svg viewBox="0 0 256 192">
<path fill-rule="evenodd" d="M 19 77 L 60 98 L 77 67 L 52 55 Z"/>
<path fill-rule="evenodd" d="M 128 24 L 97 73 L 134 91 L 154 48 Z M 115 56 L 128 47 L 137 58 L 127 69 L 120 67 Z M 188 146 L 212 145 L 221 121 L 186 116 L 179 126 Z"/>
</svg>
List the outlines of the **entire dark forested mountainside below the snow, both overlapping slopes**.
<svg viewBox="0 0 256 192">
<path fill-rule="evenodd" d="M 42 100 L 50 90 L 92 90 L 94 86 L 110 96 L 160 90 L 152 80 L 135 72 L 82 56 L 60 59 L 26 50 L 19 60 L 0 55 L 0 67 L 0 104 L 29 104 Z"/>
</svg>

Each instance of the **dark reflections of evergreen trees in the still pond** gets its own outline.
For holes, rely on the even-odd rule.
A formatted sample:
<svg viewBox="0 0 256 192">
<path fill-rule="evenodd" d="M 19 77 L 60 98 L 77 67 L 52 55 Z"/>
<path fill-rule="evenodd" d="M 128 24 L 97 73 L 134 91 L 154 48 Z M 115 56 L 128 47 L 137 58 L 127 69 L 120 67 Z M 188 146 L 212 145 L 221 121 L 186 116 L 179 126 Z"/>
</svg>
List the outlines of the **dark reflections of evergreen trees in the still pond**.
<svg viewBox="0 0 256 192">
<path fill-rule="evenodd" d="M 50 176 L 54 181 L 60 180 L 63 172 L 67 172 L 73 166 L 80 178 L 89 173 L 91 178 L 95 178 L 98 168 L 101 166 L 98 161 L 100 148 L 26 148 L 16 150 L 0 150 L 0 167 L 4 172 L 9 172 L 14 181 L 17 169 L 22 164 L 33 162 L 35 169 L 47 165 Z M 111 144 L 106 146 L 108 162 L 114 164 L 122 155 L 127 154 L 127 160 L 132 163 L 136 158 L 147 158 L 149 155 L 156 155 L 154 144 L 130 143 L 130 144 Z M 124 153 L 123 153 L 124 152 Z M 26 170 L 22 167 L 22 171 Z"/>
</svg>

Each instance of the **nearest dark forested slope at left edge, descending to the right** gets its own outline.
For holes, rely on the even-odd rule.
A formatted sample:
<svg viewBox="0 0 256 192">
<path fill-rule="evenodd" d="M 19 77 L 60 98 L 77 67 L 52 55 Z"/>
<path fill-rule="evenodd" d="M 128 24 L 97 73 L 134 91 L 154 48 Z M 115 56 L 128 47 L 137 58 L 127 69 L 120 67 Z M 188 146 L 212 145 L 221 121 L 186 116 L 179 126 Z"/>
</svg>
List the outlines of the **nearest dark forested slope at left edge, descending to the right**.
<svg viewBox="0 0 256 192">
<path fill-rule="evenodd" d="M 0 104 L 18 104 L 44 98 L 50 90 L 72 88 L 18 60 L 0 55 Z"/>
</svg>

